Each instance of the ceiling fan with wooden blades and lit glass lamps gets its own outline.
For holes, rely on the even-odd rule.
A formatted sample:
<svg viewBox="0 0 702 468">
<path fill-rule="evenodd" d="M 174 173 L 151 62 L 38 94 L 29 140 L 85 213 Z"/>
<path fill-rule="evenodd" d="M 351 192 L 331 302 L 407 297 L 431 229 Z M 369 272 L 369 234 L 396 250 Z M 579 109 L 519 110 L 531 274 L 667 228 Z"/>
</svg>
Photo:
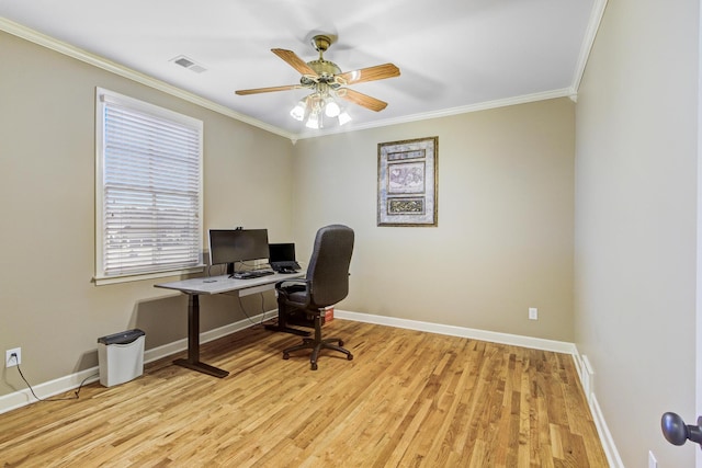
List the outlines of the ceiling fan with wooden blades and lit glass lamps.
<svg viewBox="0 0 702 468">
<path fill-rule="evenodd" d="M 387 106 L 386 102 L 346 87 L 366 81 L 399 77 L 399 68 L 393 64 L 384 64 L 375 67 L 341 72 L 341 69 L 337 64 L 325 60 L 324 58 L 324 53 L 331 44 L 332 39 L 330 36 L 325 34 L 315 35 L 312 38 L 312 45 L 317 52 L 319 52 L 319 58 L 308 62 L 305 62 L 292 50 L 285 50 L 282 48 L 271 49 L 273 54 L 282 58 L 291 67 L 302 73 L 299 84 L 239 90 L 236 93 L 238 95 L 248 95 L 304 88 L 310 89 L 314 92 L 301 101 L 298 106 L 291 112 L 291 115 L 298 121 L 302 121 L 306 114 L 318 114 L 324 107 L 326 107 L 327 115 L 336 116 L 331 115 L 330 111 L 331 113 L 339 115 L 338 113 L 340 110 L 338 105 L 336 105 L 336 103 L 330 103 L 335 96 L 349 101 L 353 104 L 361 105 L 365 109 L 370 109 L 371 111 L 380 112 L 384 110 Z M 336 109 L 333 109 L 335 105 Z"/>
</svg>

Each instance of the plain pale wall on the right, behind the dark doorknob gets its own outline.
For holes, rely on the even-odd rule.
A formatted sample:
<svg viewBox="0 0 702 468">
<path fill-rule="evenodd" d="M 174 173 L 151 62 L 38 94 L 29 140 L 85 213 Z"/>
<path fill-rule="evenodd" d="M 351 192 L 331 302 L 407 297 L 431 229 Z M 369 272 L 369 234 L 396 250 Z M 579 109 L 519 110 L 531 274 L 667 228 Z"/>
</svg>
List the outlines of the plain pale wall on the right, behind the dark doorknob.
<svg viewBox="0 0 702 468">
<path fill-rule="evenodd" d="M 578 93 L 576 344 L 627 467 L 699 452 L 660 432 L 697 419 L 698 9 L 610 1 Z"/>
</svg>

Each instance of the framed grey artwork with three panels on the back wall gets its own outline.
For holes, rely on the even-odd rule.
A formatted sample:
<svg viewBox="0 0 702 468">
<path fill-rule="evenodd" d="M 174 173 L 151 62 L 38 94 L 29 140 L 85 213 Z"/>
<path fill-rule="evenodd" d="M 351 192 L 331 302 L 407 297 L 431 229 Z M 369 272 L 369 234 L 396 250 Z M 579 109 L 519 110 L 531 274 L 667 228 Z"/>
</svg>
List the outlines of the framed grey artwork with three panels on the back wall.
<svg viewBox="0 0 702 468">
<path fill-rule="evenodd" d="M 439 137 L 377 145 L 377 226 L 438 226 Z"/>
</svg>

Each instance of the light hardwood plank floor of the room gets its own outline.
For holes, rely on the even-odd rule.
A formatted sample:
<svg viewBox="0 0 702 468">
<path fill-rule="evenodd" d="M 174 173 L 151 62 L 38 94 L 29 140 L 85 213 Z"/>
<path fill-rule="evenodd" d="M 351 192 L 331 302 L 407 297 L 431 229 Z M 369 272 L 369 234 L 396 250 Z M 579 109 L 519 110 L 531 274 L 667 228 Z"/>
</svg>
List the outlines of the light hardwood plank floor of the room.
<svg viewBox="0 0 702 468">
<path fill-rule="evenodd" d="M 0 415 L 2 467 L 607 467 L 573 357 L 336 319 L 353 361 L 283 361 L 256 326 L 202 346 L 224 379 L 148 364 Z M 71 396 L 72 392 L 67 393 Z"/>
</svg>

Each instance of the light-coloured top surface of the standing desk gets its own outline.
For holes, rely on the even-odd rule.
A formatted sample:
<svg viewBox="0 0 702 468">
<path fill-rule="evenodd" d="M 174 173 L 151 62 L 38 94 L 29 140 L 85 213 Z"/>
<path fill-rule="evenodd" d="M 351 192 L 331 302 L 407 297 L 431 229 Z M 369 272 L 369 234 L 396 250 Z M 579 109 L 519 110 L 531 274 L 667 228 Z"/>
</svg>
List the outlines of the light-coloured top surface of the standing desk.
<svg viewBox="0 0 702 468">
<path fill-rule="evenodd" d="M 182 279 L 172 283 L 161 283 L 154 285 L 166 289 L 176 289 L 186 294 L 222 294 L 239 290 L 241 296 L 254 294 L 261 290 L 272 289 L 275 283 L 285 279 L 299 279 L 305 277 L 304 272 L 293 274 L 275 273 L 268 276 L 249 279 L 230 278 L 228 275 L 208 276 L 191 279 Z"/>
</svg>

